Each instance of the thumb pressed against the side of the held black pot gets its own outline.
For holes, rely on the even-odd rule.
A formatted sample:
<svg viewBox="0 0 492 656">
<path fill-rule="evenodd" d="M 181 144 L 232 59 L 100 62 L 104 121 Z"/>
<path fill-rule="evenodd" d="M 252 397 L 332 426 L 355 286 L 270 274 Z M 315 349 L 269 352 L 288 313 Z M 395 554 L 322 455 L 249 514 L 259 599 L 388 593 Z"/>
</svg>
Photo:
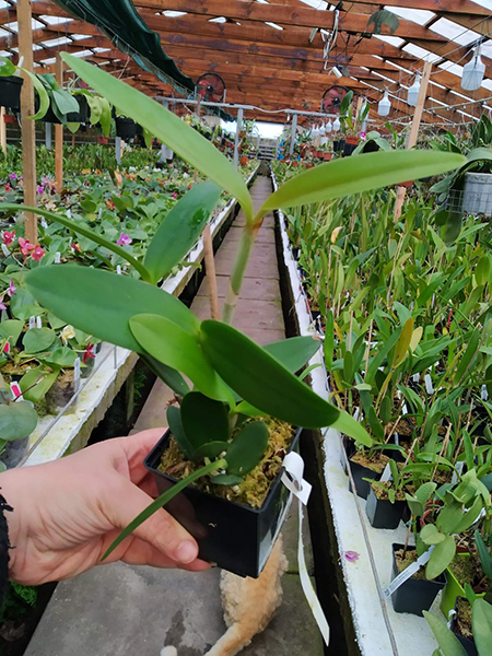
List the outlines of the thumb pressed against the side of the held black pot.
<svg viewBox="0 0 492 656">
<path fill-rule="evenodd" d="M 154 500 L 126 479 L 121 478 L 118 488 L 117 493 L 112 495 L 106 514 L 115 528 L 124 529 Z M 164 508 L 145 519 L 132 535 L 177 563 L 188 564 L 198 558 L 195 538 Z"/>
</svg>

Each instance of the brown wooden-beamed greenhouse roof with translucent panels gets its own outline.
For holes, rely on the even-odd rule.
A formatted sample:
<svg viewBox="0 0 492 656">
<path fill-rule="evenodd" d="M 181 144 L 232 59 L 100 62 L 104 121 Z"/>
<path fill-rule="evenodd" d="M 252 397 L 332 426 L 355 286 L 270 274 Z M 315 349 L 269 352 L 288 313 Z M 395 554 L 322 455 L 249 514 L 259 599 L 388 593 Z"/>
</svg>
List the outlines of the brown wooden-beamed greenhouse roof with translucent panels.
<svg viewBox="0 0 492 656">
<path fill-rule="evenodd" d="M 78 3 L 65 0 L 62 4 Z M 140 51 L 137 63 L 127 36 L 115 36 L 104 27 L 101 32 L 51 0 L 35 0 L 34 61 L 39 72 L 51 71 L 57 51 L 68 50 L 161 96 L 189 93 L 184 81 L 214 71 L 225 81 L 227 102 L 268 112 L 285 107 L 318 112 L 324 92 L 335 85 L 353 89 L 356 96 L 374 103 L 387 90 L 390 119 L 407 122 L 414 112 L 407 103 L 407 89 L 424 62 L 432 61 L 424 122 L 452 127 L 491 110 L 492 0 L 399 0 L 397 4 L 385 5 L 396 14 L 396 23 L 375 28 L 371 16 L 383 7 L 376 0 L 337 5 L 323 0 L 134 0 L 145 33 L 159 35 L 163 57 L 174 67 L 173 82 L 168 71 L 167 77 L 159 71 L 156 77 L 155 67 L 145 65 L 149 52 Z M 15 5 L 14 0 L 0 0 L 0 50 L 16 57 Z M 480 89 L 467 92 L 460 84 L 462 67 L 478 45 L 485 77 Z M 257 109 L 247 116 L 285 118 L 283 113 Z"/>
</svg>

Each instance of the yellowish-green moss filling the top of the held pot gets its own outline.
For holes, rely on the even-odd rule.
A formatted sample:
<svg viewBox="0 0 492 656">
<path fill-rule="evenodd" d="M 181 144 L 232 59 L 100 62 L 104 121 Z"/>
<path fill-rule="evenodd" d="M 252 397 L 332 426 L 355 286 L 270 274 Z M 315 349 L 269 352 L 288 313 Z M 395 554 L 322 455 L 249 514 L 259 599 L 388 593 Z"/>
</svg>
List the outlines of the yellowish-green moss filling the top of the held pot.
<svg viewBox="0 0 492 656">
<path fill-rule="evenodd" d="M 211 476 L 198 480 L 194 483 L 195 487 L 209 494 L 235 501 L 253 508 L 260 508 L 282 468 L 283 458 L 294 436 L 294 429 L 285 422 L 271 418 L 262 419 L 262 421 L 268 425 L 270 432 L 267 450 L 261 461 L 245 477 L 241 484 L 234 487 L 214 485 L 213 476 Z M 201 462 L 195 464 L 185 460 L 176 440 L 171 437 L 169 446 L 162 455 L 159 470 L 177 480 L 183 480 L 199 469 L 201 465 Z"/>
</svg>

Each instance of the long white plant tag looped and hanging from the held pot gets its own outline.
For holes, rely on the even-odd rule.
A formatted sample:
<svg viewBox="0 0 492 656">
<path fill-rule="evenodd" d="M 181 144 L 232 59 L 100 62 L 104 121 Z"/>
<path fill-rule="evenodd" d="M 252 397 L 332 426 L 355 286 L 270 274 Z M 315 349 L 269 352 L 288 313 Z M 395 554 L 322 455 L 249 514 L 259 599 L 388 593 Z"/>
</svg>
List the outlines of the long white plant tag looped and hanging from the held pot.
<svg viewBox="0 0 492 656">
<path fill-rule="evenodd" d="M 301 456 L 294 452 L 288 454 L 283 460 L 284 473 L 282 475 L 282 482 L 288 490 L 297 497 L 298 504 L 298 542 L 297 542 L 297 561 L 298 561 L 298 575 L 301 578 L 301 585 L 303 593 L 307 599 L 309 608 L 313 612 L 313 617 L 316 620 L 318 629 L 323 635 L 325 644 L 328 646 L 330 642 L 330 628 L 326 620 L 325 613 L 323 612 L 319 599 L 316 596 L 316 591 L 309 578 L 307 572 L 306 559 L 304 555 L 304 542 L 303 542 L 303 519 L 304 512 L 303 505 L 305 505 L 309 499 L 312 485 L 304 480 L 304 460 Z"/>
</svg>

